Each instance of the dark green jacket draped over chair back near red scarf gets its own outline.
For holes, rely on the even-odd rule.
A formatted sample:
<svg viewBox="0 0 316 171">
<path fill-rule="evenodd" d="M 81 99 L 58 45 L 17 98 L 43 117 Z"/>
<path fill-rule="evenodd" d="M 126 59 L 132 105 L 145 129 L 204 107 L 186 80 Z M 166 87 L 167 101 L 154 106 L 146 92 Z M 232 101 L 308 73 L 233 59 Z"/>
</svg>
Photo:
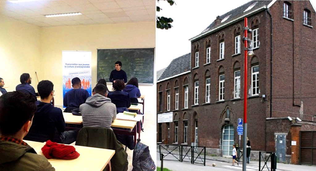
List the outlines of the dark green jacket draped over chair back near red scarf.
<svg viewBox="0 0 316 171">
<path fill-rule="evenodd" d="M 115 154 L 111 159 L 112 171 L 127 170 L 127 153 L 109 128 L 83 127 L 79 131 L 76 145 L 115 150 Z"/>
</svg>

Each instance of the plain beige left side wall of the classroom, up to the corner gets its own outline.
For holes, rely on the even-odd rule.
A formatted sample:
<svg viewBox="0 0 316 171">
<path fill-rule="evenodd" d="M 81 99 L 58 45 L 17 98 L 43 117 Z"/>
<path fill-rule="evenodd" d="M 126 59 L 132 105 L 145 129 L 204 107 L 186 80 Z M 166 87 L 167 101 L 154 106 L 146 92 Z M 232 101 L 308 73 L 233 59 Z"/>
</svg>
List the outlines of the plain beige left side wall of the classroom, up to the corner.
<svg viewBox="0 0 316 171">
<path fill-rule="evenodd" d="M 36 90 L 35 71 L 40 68 L 40 27 L 0 15 L 0 77 L 7 91 L 20 84 L 20 75 L 29 73 Z"/>
</svg>

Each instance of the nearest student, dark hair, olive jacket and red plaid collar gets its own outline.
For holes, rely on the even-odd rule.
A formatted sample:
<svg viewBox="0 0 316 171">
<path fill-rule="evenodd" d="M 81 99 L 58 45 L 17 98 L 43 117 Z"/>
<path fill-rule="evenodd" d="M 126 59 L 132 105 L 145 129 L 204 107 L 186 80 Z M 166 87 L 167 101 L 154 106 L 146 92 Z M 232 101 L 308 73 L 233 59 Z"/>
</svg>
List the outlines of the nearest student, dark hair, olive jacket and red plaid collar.
<svg viewBox="0 0 316 171">
<path fill-rule="evenodd" d="M 35 111 L 30 94 L 13 91 L 0 97 L 0 170 L 55 170 L 23 141 Z"/>
</svg>

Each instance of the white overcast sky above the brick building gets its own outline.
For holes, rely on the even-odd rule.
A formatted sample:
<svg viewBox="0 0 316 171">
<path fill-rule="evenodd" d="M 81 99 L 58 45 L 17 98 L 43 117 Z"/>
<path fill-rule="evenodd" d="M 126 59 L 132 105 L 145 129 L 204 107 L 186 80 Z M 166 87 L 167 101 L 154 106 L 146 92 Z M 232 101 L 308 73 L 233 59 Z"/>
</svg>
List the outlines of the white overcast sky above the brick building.
<svg viewBox="0 0 316 171">
<path fill-rule="evenodd" d="M 200 34 L 218 15 L 223 15 L 250 0 L 174 0 L 170 6 L 167 1 L 156 3 L 162 10 L 157 16 L 173 19 L 172 28 L 156 29 L 156 68 L 166 68 L 179 56 L 190 53 L 190 38 Z M 314 7 L 316 0 L 311 0 Z"/>
</svg>

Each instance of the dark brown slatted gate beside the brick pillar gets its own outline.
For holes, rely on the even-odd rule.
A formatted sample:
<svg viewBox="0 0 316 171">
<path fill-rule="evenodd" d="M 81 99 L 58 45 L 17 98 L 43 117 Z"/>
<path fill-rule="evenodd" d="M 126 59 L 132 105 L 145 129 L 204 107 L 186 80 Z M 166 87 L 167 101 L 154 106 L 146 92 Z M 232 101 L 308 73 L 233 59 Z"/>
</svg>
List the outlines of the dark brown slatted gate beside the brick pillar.
<svg viewBox="0 0 316 171">
<path fill-rule="evenodd" d="M 301 164 L 316 165 L 316 131 L 301 131 Z"/>
</svg>

